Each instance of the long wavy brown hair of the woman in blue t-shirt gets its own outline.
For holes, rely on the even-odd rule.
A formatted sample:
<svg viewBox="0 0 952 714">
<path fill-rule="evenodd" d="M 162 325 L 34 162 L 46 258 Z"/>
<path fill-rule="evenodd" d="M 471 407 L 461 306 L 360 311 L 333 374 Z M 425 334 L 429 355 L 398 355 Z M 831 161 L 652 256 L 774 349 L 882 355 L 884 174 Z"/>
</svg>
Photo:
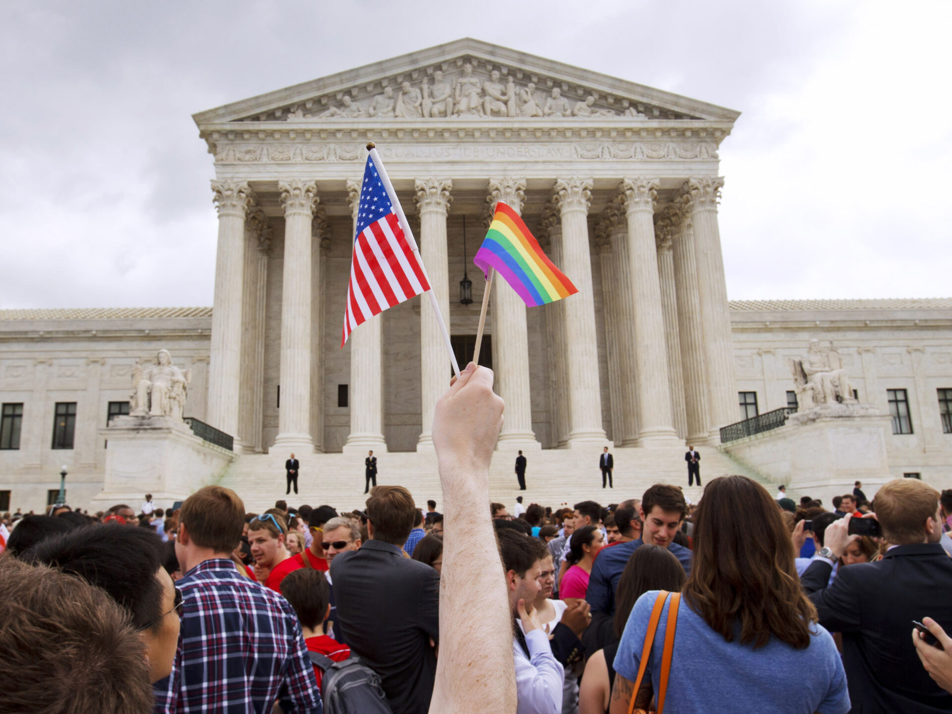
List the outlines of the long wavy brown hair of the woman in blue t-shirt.
<svg viewBox="0 0 952 714">
<path fill-rule="evenodd" d="M 726 642 L 758 648 L 773 636 L 795 649 L 809 646 L 817 610 L 803 593 L 793 542 L 764 486 L 745 476 L 708 482 L 693 552 L 684 600 Z"/>
</svg>

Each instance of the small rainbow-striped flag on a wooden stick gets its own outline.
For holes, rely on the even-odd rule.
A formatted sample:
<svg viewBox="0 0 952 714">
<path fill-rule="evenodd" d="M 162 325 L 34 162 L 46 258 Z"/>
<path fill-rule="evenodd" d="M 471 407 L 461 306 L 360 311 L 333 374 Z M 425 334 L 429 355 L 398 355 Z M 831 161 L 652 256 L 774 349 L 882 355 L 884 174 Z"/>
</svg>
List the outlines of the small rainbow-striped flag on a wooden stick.
<svg viewBox="0 0 952 714">
<path fill-rule="evenodd" d="M 473 263 L 489 279 L 489 268 L 506 279 L 528 307 L 554 303 L 579 291 L 556 268 L 512 208 L 500 202 Z"/>
</svg>

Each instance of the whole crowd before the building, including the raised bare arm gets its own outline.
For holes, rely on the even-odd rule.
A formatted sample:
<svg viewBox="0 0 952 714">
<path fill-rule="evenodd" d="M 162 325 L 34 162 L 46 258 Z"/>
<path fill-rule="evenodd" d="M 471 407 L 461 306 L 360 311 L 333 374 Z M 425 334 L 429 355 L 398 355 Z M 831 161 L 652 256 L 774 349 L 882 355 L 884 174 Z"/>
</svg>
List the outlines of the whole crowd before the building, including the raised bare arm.
<svg viewBox="0 0 952 714">
<path fill-rule="evenodd" d="M 858 483 L 827 510 L 728 476 L 694 505 L 657 484 L 510 513 L 502 413 L 467 367 L 426 509 L 373 486 L 362 510 L 249 513 L 208 486 L 5 514 L 0 709 L 952 711 L 952 490 Z"/>
</svg>

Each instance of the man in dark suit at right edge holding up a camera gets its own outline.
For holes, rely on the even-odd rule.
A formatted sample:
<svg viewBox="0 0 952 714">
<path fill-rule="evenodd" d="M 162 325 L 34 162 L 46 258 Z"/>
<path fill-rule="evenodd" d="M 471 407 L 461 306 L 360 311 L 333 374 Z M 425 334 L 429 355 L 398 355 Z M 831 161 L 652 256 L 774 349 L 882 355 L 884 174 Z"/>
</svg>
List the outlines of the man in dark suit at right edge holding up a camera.
<svg viewBox="0 0 952 714">
<path fill-rule="evenodd" d="M 916 479 L 896 479 L 876 493 L 886 542 L 878 563 L 833 564 L 856 536 L 847 514 L 826 527 L 823 548 L 801 577 L 820 624 L 843 634 L 843 668 L 853 711 L 926 714 L 952 710 L 952 694 L 933 682 L 910 642 L 912 621 L 952 627 L 952 560 L 939 541 L 939 493 Z"/>
</svg>

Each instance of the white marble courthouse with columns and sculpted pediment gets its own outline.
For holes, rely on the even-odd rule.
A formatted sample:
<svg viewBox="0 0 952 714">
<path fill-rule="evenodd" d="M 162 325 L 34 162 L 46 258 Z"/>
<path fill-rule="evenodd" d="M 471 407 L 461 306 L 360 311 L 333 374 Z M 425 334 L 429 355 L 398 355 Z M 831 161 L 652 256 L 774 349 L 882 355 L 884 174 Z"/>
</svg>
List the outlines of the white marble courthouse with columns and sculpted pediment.
<svg viewBox="0 0 952 714">
<path fill-rule="evenodd" d="M 738 116 L 471 39 L 196 114 L 214 156 L 214 305 L 0 310 L 0 510 L 4 490 L 17 489 L 6 507 L 41 507 L 60 464 L 87 485 L 77 503 L 97 492 L 109 419 L 128 412 L 129 375 L 161 347 L 188 368 L 186 416 L 233 437 L 222 483 L 273 475 L 292 451 L 305 473 L 326 465 L 327 488 L 335 469 L 362 468 L 368 449 L 391 463 L 403 452 L 405 475 L 432 470 L 433 410 L 450 367 L 428 299 L 386 310 L 341 348 L 368 141 L 461 365 L 484 289 L 471 259 L 496 202 L 520 212 L 579 288 L 527 309 L 494 281 L 481 362 L 506 402 L 501 452 L 526 450 L 566 488 L 571 469 L 559 464 L 605 445 L 632 449 L 629 464 L 644 454 L 654 472 L 670 458 L 680 473 L 691 443 L 714 466 L 728 458 L 714 448 L 721 427 L 796 403 L 786 358 L 819 339 L 838 352 L 856 399 L 891 420 L 890 473 L 942 486 L 952 300 L 729 303 L 719 151 Z M 471 295 L 461 295 L 465 275 Z M 69 418 L 67 447 L 57 429 Z M 782 478 L 764 463 L 747 466 Z"/>
</svg>

